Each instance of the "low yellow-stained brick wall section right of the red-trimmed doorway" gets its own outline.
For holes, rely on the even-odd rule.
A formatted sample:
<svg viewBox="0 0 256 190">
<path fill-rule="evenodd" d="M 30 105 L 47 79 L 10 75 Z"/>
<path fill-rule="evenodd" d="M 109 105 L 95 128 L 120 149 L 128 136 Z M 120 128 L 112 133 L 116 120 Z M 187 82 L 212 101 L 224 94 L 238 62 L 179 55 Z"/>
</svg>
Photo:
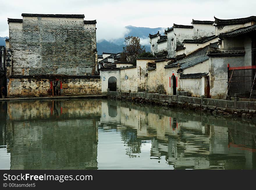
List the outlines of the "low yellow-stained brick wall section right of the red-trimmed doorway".
<svg viewBox="0 0 256 190">
<path fill-rule="evenodd" d="M 63 95 L 101 94 L 101 79 L 63 79 L 62 82 L 67 84 Z"/>
</svg>

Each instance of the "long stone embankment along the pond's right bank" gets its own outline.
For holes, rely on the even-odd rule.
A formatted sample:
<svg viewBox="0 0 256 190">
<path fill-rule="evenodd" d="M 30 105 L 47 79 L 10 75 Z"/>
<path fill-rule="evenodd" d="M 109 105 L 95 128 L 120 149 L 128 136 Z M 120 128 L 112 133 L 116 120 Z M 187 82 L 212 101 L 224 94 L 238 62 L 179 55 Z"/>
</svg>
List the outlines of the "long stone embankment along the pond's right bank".
<svg viewBox="0 0 256 190">
<path fill-rule="evenodd" d="M 236 97 L 234 101 L 230 101 L 204 97 L 197 98 L 179 95 L 109 91 L 108 98 L 138 102 L 141 104 L 145 103 L 192 109 L 211 114 L 220 114 L 226 117 L 245 117 L 256 120 L 256 102 L 239 101 L 238 97 Z"/>
</svg>

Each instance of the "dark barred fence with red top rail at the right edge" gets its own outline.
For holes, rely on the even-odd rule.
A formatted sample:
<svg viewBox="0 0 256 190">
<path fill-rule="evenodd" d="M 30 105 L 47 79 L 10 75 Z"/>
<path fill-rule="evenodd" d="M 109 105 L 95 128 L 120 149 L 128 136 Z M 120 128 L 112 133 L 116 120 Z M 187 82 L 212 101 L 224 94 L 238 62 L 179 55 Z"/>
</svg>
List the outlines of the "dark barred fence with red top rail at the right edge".
<svg viewBox="0 0 256 190">
<path fill-rule="evenodd" d="M 229 67 L 228 66 L 228 95 L 234 96 L 239 94 L 239 97 L 256 98 L 256 81 L 255 66 L 241 66 L 241 67 Z M 254 85 L 253 85 L 254 84 Z"/>
</svg>

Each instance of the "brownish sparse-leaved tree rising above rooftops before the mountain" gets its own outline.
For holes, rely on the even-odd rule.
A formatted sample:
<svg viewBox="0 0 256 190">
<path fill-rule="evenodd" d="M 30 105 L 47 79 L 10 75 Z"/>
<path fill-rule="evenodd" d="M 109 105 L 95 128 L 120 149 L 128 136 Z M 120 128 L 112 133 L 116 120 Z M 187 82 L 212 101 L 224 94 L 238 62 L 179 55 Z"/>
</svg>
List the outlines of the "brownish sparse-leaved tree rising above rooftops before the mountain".
<svg viewBox="0 0 256 190">
<path fill-rule="evenodd" d="M 139 37 L 128 36 L 125 38 L 125 47 L 123 47 L 121 59 L 127 59 L 132 63 L 136 63 L 136 57 L 145 52 L 145 47 L 141 46 Z"/>
</svg>

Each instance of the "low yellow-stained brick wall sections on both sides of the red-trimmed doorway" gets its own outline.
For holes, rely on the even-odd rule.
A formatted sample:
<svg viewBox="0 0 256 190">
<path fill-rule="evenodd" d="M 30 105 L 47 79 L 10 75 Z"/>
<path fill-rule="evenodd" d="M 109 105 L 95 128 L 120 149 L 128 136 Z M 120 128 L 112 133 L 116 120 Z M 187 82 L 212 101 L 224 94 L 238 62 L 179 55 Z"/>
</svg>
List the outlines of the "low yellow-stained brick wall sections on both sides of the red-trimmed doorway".
<svg viewBox="0 0 256 190">
<path fill-rule="evenodd" d="M 100 78 L 62 79 L 67 88 L 63 88 L 62 95 L 92 95 L 101 94 Z M 49 96 L 49 79 L 14 79 L 8 82 L 8 96 Z"/>
</svg>

